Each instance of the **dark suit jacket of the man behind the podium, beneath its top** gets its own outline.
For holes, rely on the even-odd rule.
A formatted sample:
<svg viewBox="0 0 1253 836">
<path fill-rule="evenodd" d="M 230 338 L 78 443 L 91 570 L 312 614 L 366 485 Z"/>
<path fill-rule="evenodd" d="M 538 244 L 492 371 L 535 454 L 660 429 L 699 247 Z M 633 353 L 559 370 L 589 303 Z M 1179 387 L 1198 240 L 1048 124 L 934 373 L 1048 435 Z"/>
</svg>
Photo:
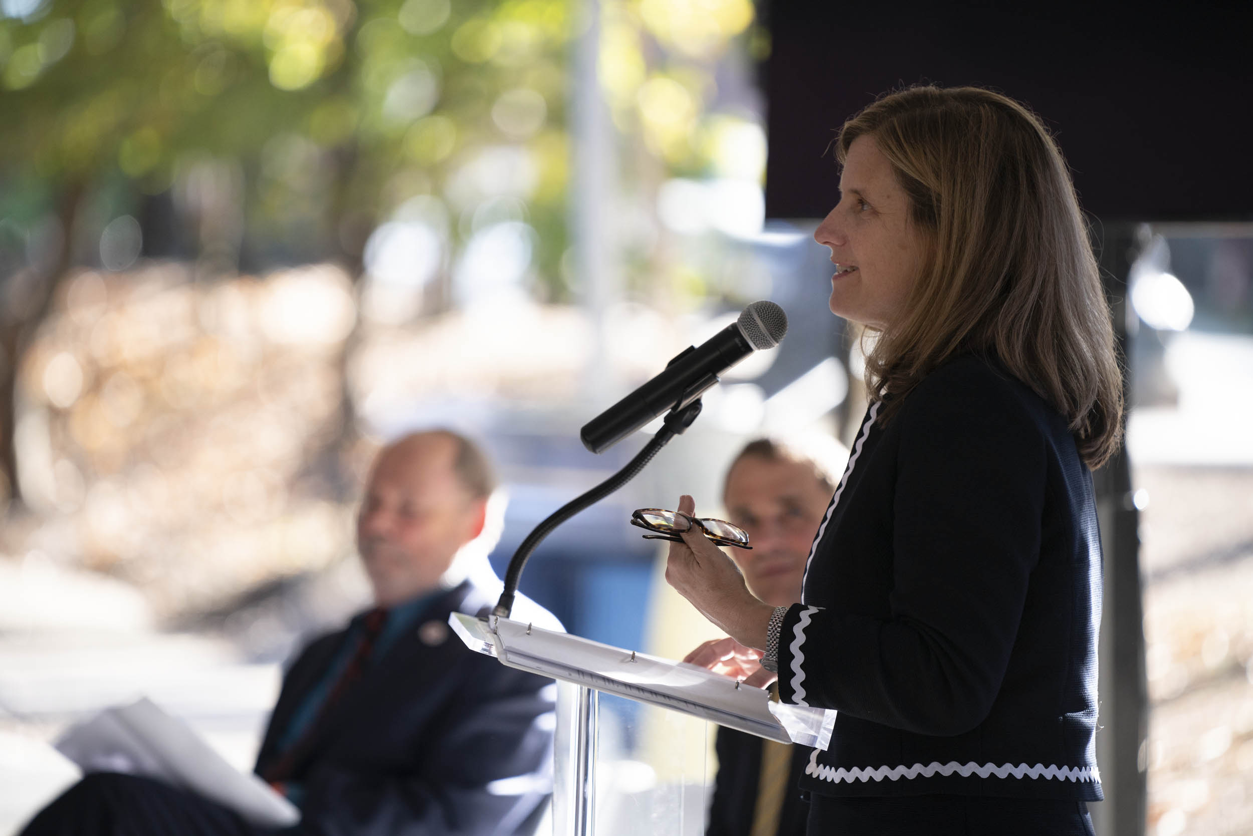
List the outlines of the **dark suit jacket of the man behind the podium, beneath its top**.
<svg viewBox="0 0 1253 836">
<path fill-rule="evenodd" d="M 714 778 L 705 836 L 748 836 L 757 811 L 762 738 L 719 726 L 715 748 L 718 776 Z M 807 746 L 792 747 L 792 770 L 787 777 L 788 792 L 783 796 L 783 807 L 779 810 L 778 836 L 804 836 L 809 802 L 802 797 L 797 781 L 804 772 L 812 751 Z"/>
</svg>

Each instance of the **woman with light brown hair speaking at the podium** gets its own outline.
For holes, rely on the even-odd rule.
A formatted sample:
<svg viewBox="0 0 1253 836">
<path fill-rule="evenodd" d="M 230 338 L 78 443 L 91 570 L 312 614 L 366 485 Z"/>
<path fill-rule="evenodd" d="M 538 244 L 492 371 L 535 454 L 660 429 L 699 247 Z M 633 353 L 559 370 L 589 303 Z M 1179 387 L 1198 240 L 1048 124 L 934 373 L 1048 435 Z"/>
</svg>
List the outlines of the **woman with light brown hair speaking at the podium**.
<svg viewBox="0 0 1253 836">
<path fill-rule="evenodd" d="M 814 238 L 831 311 L 875 337 L 871 405 L 803 603 L 753 598 L 699 526 L 667 578 L 762 653 L 783 702 L 838 711 L 802 778 L 809 833 L 1091 833 L 1089 469 L 1116 449 L 1123 404 L 1066 163 L 1030 112 L 976 88 L 887 95 L 837 155 Z"/>
</svg>

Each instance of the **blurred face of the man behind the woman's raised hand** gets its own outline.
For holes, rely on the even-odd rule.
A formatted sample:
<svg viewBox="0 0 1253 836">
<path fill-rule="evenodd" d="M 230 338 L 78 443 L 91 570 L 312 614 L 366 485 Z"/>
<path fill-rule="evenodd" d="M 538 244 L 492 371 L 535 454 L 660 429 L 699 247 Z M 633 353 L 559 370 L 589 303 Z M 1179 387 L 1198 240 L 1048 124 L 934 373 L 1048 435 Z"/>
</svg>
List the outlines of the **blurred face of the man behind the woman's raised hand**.
<svg viewBox="0 0 1253 836">
<path fill-rule="evenodd" d="M 727 474 L 727 519 L 748 531 L 752 550 L 729 549 L 749 590 L 773 607 L 801 600 L 809 545 L 831 493 L 806 465 L 744 456 Z"/>
</svg>

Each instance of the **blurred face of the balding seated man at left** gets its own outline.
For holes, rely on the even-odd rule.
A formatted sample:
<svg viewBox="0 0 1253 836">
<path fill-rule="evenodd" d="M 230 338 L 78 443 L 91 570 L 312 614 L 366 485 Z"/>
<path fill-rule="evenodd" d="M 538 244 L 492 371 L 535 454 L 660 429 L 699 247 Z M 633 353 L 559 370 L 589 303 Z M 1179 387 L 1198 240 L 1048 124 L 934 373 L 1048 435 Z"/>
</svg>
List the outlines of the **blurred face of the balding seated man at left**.
<svg viewBox="0 0 1253 836">
<path fill-rule="evenodd" d="M 413 436 L 375 461 L 357 514 L 357 549 L 380 607 L 432 592 L 457 550 L 482 531 L 486 500 L 452 468 L 456 445 Z"/>
</svg>

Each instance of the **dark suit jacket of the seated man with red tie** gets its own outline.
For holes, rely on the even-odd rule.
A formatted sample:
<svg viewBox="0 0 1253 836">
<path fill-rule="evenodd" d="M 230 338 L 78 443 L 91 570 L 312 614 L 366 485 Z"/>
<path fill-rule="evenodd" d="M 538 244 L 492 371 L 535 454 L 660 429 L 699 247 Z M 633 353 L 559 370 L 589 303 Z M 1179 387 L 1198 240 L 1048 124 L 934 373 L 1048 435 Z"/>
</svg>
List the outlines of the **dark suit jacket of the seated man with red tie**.
<svg viewBox="0 0 1253 836">
<path fill-rule="evenodd" d="M 490 603 L 470 582 L 432 602 L 318 724 L 315 753 L 296 778 L 304 787 L 301 832 L 487 836 L 534 826 L 551 792 L 556 688 L 446 629 L 454 610 Z M 258 773 L 277 758 L 277 739 L 343 637 L 312 642 L 283 678 Z"/>
</svg>

